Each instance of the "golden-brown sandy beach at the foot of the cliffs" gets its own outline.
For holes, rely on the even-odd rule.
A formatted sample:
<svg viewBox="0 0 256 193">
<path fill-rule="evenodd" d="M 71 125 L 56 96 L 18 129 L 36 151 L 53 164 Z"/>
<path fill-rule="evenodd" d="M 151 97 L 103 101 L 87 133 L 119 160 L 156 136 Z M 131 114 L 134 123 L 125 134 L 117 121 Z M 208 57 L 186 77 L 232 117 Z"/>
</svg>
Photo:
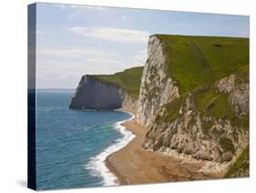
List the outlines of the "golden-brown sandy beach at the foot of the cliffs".
<svg viewBox="0 0 256 193">
<path fill-rule="evenodd" d="M 148 128 L 141 127 L 134 120 L 125 122 L 123 126 L 136 137 L 126 147 L 106 159 L 107 167 L 118 177 L 120 185 L 220 178 L 220 174 L 206 175 L 200 172 L 205 161 L 190 163 L 179 157 L 166 157 L 157 152 L 145 150 L 141 144 Z"/>
</svg>

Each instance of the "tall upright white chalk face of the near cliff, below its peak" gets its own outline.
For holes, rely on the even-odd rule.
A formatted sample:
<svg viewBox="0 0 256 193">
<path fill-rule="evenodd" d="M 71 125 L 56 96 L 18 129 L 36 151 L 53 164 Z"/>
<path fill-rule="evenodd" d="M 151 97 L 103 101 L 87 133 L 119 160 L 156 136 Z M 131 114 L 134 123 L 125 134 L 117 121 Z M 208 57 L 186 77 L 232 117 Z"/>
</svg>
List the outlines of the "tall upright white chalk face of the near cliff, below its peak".
<svg viewBox="0 0 256 193">
<path fill-rule="evenodd" d="M 143 69 L 138 96 L 137 121 L 150 127 L 160 107 L 179 96 L 178 86 L 167 75 L 162 45 L 157 36 L 148 40 L 148 60 Z"/>
</svg>

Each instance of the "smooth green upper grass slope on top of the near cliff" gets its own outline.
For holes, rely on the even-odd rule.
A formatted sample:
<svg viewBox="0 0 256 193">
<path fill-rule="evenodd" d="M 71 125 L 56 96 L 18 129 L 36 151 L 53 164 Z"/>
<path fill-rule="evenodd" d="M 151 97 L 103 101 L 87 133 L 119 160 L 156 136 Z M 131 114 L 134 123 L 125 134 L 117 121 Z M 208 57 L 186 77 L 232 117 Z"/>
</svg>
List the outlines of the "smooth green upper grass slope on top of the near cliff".
<svg viewBox="0 0 256 193">
<path fill-rule="evenodd" d="M 181 95 L 249 65 L 248 38 L 156 36 L 163 43 L 168 74 L 177 81 Z"/>
</svg>

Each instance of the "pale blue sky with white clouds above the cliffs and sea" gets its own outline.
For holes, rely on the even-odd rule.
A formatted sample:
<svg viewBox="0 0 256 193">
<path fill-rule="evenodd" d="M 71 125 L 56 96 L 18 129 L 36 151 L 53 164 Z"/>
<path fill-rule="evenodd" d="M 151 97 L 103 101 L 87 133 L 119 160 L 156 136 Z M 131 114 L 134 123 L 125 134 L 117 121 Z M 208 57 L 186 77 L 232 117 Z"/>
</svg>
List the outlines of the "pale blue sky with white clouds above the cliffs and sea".
<svg viewBox="0 0 256 193">
<path fill-rule="evenodd" d="M 148 36 L 249 37 L 249 16 L 36 4 L 36 87 L 76 88 L 147 60 Z"/>
</svg>

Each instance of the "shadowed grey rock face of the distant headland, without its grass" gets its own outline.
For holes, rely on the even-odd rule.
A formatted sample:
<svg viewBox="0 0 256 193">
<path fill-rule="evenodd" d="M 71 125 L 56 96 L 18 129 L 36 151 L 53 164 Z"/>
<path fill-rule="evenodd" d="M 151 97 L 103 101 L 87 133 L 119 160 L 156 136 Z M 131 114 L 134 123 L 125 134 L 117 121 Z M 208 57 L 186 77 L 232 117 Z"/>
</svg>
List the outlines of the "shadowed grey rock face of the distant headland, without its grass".
<svg viewBox="0 0 256 193">
<path fill-rule="evenodd" d="M 138 99 L 130 96 L 123 88 L 98 79 L 82 76 L 69 108 L 118 109 L 136 113 Z"/>
</svg>

